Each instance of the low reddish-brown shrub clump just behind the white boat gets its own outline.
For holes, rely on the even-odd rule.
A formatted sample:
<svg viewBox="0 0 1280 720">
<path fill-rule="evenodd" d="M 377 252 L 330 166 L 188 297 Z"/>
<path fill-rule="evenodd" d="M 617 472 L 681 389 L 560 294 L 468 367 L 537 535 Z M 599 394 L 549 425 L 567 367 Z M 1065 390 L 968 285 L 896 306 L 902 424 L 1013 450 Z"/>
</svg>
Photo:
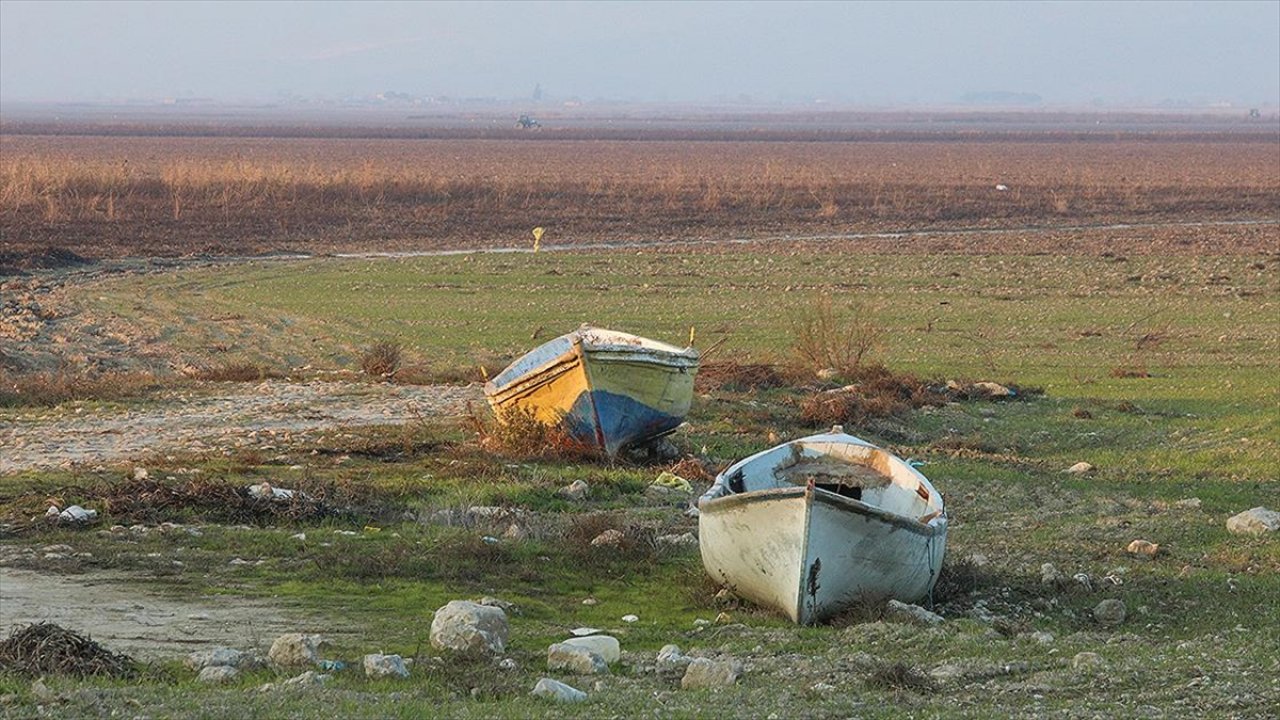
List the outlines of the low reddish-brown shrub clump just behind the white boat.
<svg viewBox="0 0 1280 720">
<path fill-rule="evenodd" d="M 895 373 L 883 365 L 864 365 L 854 370 L 852 377 L 852 386 L 804 398 L 800 402 L 801 421 L 809 427 L 860 425 L 877 418 L 900 418 L 913 409 L 947 401 L 945 395 L 915 375 Z"/>
</svg>

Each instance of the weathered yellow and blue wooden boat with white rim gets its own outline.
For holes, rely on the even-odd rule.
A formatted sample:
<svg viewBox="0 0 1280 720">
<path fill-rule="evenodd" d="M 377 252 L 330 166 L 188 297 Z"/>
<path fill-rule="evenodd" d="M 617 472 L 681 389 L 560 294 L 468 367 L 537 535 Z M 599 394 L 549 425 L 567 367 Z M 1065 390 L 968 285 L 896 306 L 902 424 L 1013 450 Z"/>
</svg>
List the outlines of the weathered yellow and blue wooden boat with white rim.
<svg viewBox="0 0 1280 720">
<path fill-rule="evenodd" d="M 680 427 L 696 374 L 692 347 L 582 325 L 512 363 L 485 396 L 499 420 L 526 411 L 614 457 Z"/>
</svg>

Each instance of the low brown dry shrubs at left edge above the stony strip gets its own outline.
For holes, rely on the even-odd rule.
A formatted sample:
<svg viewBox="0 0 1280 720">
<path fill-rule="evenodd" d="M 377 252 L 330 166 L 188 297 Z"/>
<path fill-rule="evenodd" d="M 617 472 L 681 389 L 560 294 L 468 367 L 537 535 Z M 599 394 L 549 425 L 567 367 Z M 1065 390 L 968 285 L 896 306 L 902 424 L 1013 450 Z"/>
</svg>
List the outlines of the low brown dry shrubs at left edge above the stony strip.
<svg viewBox="0 0 1280 720">
<path fill-rule="evenodd" d="M 58 370 L 9 373 L 0 370 L 0 407 L 52 407 L 74 400 L 124 400 L 160 387 L 151 373 Z"/>
</svg>

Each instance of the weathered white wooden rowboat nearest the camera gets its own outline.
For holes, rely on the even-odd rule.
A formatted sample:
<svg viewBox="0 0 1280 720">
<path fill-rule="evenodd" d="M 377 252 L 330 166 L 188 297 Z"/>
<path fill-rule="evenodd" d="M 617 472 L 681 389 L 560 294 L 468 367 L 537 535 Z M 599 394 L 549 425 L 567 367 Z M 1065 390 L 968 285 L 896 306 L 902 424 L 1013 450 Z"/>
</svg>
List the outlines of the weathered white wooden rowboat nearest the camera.
<svg viewBox="0 0 1280 720">
<path fill-rule="evenodd" d="M 698 506 L 712 578 L 799 624 L 860 601 L 915 602 L 942 569 L 942 496 L 840 425 L 739 461 Z"/>
</svg>

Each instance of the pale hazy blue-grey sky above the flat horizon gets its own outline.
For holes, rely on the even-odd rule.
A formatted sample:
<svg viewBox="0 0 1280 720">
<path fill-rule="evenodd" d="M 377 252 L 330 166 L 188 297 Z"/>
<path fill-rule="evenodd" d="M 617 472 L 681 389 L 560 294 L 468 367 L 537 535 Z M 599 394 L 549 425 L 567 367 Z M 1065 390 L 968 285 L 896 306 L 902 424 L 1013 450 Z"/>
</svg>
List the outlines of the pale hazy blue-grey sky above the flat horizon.
<svg viewBox="0 0 1280 720">
<path fill-rule="evenodd" d="M 1280 0 L 27 3 L 0 99 L 372 95 L 1280 104 Z"/>
</svg>

